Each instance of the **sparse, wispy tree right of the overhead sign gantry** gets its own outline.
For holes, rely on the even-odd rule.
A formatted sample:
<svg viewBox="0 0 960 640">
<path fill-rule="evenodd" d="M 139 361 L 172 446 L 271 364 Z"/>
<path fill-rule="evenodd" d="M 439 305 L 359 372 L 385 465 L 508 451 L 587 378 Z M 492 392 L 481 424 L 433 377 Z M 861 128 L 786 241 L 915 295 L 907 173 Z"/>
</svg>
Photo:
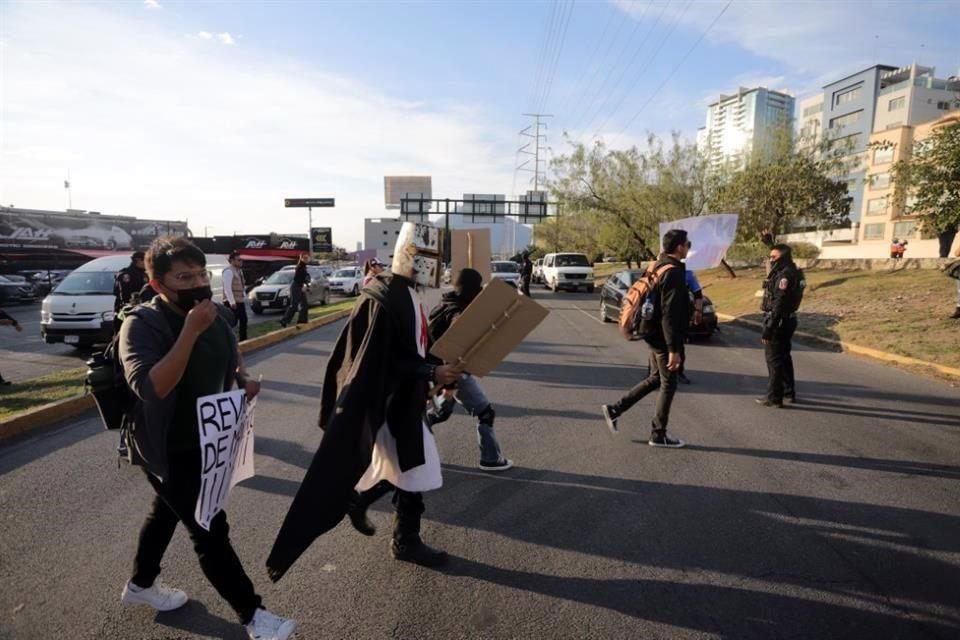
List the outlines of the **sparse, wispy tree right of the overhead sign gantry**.
<svg viewBox="0 0 960 640">
<path fill-rule="evenodd" d="M 659 223 L 700 215 L 707 202 L 696 146 L 683 143 L 678 133 L 666 144 L 650 135 L 643 150 L 573 143 L 551 167 L 549 187 L 563 214 L 541 225 L 543 231 L 538 227 L 537 237 L 548 247 L 553 241 L 553 249 L 652 259 L 660 245 Z"/>
</svg>

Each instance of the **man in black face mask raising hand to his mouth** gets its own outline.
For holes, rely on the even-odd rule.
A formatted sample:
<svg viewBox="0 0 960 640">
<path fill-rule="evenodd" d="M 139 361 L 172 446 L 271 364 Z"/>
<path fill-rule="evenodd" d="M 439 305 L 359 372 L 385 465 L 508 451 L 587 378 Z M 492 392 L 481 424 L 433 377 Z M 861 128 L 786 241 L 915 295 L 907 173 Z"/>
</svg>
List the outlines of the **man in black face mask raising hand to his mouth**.
<svg viewBox="0 0 960 640">
<path fill-rule="evenodd" d="M 209 531 L 194 517 L 201 475 L 197 399 L 234 385 L 254 397 L 260 383 L 247 375 L 230 312 L 211 300 L 203 252 L 186 238 L 158 238 L 147 252 L 146 267 L 158 295 L 127 314 L 120 332 L 120 357 L 137 398 L 131 460 L 144 468 L 156 496 L 140 531 L 133 577 L 122 600 L 158 611 L 187 602 L 183 591 L 158 579 L 160 563 L 180 523 L 190 534 L 207 579 L 246 625 L 250 638 L 283 640 L 296 623 L 262 607 L 230 545 L 226 513 L 213 519 Z"/>
</svg>

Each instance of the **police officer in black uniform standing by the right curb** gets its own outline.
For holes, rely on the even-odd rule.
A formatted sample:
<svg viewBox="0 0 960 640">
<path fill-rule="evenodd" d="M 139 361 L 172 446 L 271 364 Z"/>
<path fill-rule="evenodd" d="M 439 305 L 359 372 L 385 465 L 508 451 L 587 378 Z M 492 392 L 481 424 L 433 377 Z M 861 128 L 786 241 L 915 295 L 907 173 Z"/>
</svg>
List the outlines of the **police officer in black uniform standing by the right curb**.
<svg viewBox="0 0 960 640">
<path fill-rule="evenodd" d="M 786 400 L 796 402 L 796 383 L 790 339 L 797 330 L 797 309 L 806 286 L 803 271 L 793 262 L 790 247 L 775 244 L 770 248 L 770 275 L 763 287 L 763 352 L 767 358 L 769 382 L 767 395 L 757 398 L 763 407 L 783 407 Z"/>
</svg>

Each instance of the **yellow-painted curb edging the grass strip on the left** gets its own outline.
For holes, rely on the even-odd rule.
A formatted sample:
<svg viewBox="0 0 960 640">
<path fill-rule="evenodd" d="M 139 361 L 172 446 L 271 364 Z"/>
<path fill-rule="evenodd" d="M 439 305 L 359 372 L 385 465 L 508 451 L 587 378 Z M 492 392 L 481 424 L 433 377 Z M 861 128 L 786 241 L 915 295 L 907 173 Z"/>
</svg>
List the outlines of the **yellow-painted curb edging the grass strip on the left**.
<svg viewBox="0 0 960 640">
<path fill-rule="evenodd" d="M 294 325 L 286 329 L 278 329 L 270 333 L 245 340 L 240 343 L 240 353 L 254 353 L 267 347 L 295 338 L 299 335 L 333 324 L 350 315 L 350 309 L 337 311 L 322 318 L 315 318 L 304 324 Z M 49 427 L 67 418 L 73 418 L 96 408 L 93 396 L 88 394 L 77 395 L 58 402 L 51 402 L 32 411 L 27 411 L 7 420 L 0 420 L 0 442 L 36 429 Z"/>
</svg>

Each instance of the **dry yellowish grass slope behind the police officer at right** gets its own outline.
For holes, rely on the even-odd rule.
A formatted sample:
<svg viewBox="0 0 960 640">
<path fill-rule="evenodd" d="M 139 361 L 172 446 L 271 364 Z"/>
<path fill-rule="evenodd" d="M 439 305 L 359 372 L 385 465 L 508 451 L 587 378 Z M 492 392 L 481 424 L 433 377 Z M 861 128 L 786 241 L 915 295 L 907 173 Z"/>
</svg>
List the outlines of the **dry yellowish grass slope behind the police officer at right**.
<svg viewBox="0 0 960 640">
<path fill-rule="evenodd" d="M 760 313 L 763 269 L 697 274 L 717 310 L 733 316 Z M 800 331 L 833 340 L 960 367 L 956 285 L 939 271 L 807 271 Z"/>
</svg>

